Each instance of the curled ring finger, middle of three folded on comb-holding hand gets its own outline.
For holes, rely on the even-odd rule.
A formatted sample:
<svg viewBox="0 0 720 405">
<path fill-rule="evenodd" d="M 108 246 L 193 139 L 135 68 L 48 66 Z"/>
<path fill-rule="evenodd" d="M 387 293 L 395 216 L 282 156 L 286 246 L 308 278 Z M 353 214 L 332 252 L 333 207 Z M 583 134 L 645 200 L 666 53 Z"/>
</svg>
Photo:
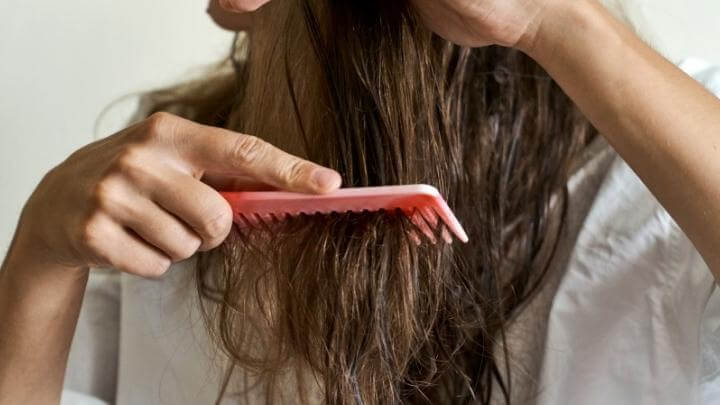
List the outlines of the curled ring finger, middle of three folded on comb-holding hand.
<svg viewBox="0 0 720 405">
<path fill-rule="evenodd" d="M 173 262 L 192 257 L 202 239 L 185 223 L 159 207 L 155 202 L 135 193 L 128 203 L 114 214 L 117 222 L 132 229 L 145 242 L 159 249 Z"/>
</svg>

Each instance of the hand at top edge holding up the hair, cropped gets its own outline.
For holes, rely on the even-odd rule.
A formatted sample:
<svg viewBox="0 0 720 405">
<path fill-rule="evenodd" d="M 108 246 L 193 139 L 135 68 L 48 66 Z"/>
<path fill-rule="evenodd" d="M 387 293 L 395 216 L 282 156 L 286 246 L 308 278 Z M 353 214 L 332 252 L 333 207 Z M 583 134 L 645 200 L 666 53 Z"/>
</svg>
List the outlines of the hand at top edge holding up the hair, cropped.
<svg viewBox="0 0 720 405">
<path fill-rule="evenodd" d="M 459 45 L 532 42 L 543 11 L 559 0 L 412 0 L 425 24 Z"/>
</svg>

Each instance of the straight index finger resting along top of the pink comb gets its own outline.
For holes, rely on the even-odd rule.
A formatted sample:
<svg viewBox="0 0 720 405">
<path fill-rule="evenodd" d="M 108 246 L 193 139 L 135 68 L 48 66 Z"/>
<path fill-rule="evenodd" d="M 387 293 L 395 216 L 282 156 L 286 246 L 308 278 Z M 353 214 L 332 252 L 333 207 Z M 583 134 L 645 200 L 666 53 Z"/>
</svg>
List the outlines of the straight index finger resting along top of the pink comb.
<svg viewBox="0 0 720 405">
<path fill-rule="evenodd" d="M 203 134 L 199 136 L 199 134 Z M 249 177 L 279 189 L 327 193 L 340 187 L 336 171 L 284 152 L 260 138 L 185 121 L 174 145 L 204 172 Z"/>
</svg>

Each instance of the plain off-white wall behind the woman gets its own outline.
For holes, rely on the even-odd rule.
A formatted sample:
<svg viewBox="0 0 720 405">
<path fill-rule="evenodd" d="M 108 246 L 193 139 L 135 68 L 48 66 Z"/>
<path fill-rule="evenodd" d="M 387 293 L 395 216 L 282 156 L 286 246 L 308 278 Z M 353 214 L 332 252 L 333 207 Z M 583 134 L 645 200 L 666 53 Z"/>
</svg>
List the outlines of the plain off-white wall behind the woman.
<svg viewBox="0 0 720 405">
<path fill-rule="evenodd" d="M 720 1 L 607 1 L 669 59 L 720 64 Z M 0 2 L 0 258 L 38 181 L 96 137 L 108 105 L 227 54 L 231 35 L 205 7 L 204 0 Z M 98 135 L 120 129 L 132 108 L 115 108 Z"/>
</svg>

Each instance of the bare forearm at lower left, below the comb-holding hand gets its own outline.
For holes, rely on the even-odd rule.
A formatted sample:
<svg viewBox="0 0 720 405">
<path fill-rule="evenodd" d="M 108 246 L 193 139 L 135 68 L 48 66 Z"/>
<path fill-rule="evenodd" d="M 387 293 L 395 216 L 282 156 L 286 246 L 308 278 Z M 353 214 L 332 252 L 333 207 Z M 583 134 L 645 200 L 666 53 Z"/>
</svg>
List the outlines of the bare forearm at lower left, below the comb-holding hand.
<svg viewBox="0 0 720 405">
<path fill-rule="evenodd" d="M 87 277 L 11 248 L 0 271 L 0 404 L 59 402 Z"/>
</svg>

